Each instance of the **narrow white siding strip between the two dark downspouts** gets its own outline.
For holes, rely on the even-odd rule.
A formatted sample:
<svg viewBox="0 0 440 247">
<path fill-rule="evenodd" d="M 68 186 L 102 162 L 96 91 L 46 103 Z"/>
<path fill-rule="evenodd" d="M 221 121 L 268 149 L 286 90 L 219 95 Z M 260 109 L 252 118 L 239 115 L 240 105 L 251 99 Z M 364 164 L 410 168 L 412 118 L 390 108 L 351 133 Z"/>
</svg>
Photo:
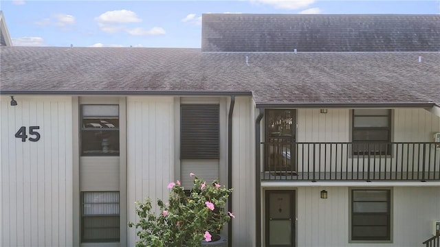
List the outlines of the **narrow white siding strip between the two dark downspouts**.
<svg viewBox="0 0 440 247">
<path fill-rule="evenodd" d="M 255 246 L 254 107 L 250 97 L 236 97 L 232 116 L 233 246 Z"/>
</svg>

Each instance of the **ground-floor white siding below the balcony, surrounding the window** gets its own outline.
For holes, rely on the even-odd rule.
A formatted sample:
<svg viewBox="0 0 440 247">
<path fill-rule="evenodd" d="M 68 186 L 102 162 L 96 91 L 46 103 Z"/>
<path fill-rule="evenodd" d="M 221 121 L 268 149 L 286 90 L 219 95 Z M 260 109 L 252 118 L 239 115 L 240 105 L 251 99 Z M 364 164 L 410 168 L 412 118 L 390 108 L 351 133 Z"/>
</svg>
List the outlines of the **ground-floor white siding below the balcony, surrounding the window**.
<svg viewBox="0 0 440 247">
<path fill-rule="evenodd" d="M 322 189 L 328 199 L 320 199 Z M 299 187 L 296 246 L 422 246 L 432 237 L 432 221 L 440 219 L 440 187 L 394 187 L 391 200 L 393 242 L 355 244 L 349 243 L 349 188 Z"/>
</svg>

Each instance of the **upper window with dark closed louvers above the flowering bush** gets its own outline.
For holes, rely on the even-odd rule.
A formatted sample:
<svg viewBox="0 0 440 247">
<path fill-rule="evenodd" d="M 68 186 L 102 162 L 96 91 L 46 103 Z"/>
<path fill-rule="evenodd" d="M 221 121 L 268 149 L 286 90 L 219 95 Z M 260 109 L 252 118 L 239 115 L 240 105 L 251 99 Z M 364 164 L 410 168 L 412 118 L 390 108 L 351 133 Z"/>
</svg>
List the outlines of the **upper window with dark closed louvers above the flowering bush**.
<svg viewBox="0 0 440 247">
<path fill-rule="evenodd" d="M 182 104 L 180 158 L 219 158 L 219 104 Z"/>
</svg>

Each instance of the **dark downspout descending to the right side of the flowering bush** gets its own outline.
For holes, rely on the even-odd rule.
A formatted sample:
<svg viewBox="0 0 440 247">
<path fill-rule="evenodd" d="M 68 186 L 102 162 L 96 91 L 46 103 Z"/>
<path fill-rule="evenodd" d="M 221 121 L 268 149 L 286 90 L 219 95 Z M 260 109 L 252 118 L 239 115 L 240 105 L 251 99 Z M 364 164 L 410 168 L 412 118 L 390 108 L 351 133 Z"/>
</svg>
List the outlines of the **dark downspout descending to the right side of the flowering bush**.
<svg viewBox="0 0 440 247">
<path fill-rule="evenodd" d="M 232 113 L 234 113 L 235 96 L 231 95 L 228 114 L 228 189 L 232 189 Z M 229 196 L 228 211 L 232 212 L 232 196 Z M 232 220 L 228 222 L 228 247 L 232 247 Z"/>
</svg>

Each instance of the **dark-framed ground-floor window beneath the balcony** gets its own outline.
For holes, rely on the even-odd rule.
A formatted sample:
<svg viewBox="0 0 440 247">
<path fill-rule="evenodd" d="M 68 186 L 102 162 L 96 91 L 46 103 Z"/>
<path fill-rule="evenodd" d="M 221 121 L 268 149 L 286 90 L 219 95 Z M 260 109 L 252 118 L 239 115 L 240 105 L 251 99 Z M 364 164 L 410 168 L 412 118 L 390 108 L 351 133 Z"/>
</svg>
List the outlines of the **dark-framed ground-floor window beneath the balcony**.
<svg viewBox="0 0 440 247">
<path fill-rule="evenodd" d="M 391 240 L 391 190 L 351 190 L 351 240 Z"/>
</svg>

